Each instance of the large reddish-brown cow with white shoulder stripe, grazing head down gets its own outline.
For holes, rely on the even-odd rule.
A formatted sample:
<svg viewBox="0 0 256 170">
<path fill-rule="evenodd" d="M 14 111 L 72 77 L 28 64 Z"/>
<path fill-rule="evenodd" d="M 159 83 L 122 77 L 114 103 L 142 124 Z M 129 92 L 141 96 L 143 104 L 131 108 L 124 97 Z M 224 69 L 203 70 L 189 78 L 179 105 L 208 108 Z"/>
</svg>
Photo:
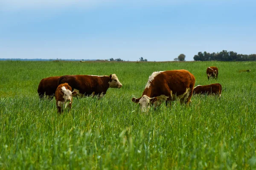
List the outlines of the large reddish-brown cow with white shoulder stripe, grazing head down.
<svg viewBox="0 0 256 170">
<path fill-rule="evenodd" d="M 140 98 L 132 101 L 140 104 L 143 112 L 148 111 L 150 104 L 154 107 L 166 101 L 166 105 L 179 99 L 180 102 L 189 103 L 195 85 L 195 77 L 187 70 L 157 71 L 148 79 L 146 87 Z"/>
</svg>

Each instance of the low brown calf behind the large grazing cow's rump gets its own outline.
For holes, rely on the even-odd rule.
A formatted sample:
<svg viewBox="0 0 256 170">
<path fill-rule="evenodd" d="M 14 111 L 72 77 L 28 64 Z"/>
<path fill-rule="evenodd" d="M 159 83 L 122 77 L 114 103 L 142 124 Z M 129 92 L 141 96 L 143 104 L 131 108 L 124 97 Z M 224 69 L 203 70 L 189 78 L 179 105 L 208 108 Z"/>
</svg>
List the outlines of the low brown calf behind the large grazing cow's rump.
<svg viewBox="0 0 256 170">
<path fill-rule="evenodd" d="M 222 86 L 219 83 L 211 85 L 198 85 L 194 88 L 194 94 L 215 94 L 221 96 Z"/>
</svg>

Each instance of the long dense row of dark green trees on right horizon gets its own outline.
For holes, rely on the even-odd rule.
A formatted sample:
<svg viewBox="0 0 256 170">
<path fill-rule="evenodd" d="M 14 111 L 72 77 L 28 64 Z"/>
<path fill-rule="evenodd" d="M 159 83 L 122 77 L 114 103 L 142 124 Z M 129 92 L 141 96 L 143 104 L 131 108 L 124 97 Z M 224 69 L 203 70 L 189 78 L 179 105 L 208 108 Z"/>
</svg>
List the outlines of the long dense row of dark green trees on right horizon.
<svg viewBox="0 0 256 170">
<path fill-rule="evenodd" d="M 195 61 L 253 61 L 256 60 L 256 54 L 237 54 L 234 51 L 223 50 L 221 52 L 207 53 L 198 52 L 194 56 Z"/>
</svg>

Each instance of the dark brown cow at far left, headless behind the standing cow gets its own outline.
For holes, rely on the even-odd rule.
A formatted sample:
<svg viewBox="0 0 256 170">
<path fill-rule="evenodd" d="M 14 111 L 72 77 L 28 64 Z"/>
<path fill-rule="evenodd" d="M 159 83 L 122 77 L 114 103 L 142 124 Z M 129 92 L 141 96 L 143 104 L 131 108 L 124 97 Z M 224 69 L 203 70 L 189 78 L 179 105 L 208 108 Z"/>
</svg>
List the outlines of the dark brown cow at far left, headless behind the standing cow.
<svg viewBox="0 0 256 170">
<path fill-rule="evenodd" d="M 55 76 L 41 79 L 38 85 L 39 97 L 43 98 L 45 94 L 46 96 L 50 96 L 52 98 L 55 94 L 56 88 L 58 87 L 58 79 L 60 77 L 61 76 Z"/>
</svg>

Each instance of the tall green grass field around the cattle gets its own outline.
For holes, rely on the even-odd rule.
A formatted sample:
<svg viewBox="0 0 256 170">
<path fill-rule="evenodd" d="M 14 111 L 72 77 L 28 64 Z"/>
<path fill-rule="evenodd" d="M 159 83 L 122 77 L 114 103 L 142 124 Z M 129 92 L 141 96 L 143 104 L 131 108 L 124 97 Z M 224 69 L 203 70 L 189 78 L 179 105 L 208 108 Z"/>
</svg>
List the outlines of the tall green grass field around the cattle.
<svg viewBox="0 0 256 170">
<path fill-rule="evenodd" d="M 208 81 L 208 66 L 219 68 Z M 255 169 L 256 62 L 0 62 L 0 169 Z M 186 69 L 221 98 L 192 96 L 148 114 L 131 101 L 153 71 Z M 251 69 L 250 72 L 239 70 Z M 57 114 L 45 77 L 116 74 L 123 87 Z"/>
</svg>

